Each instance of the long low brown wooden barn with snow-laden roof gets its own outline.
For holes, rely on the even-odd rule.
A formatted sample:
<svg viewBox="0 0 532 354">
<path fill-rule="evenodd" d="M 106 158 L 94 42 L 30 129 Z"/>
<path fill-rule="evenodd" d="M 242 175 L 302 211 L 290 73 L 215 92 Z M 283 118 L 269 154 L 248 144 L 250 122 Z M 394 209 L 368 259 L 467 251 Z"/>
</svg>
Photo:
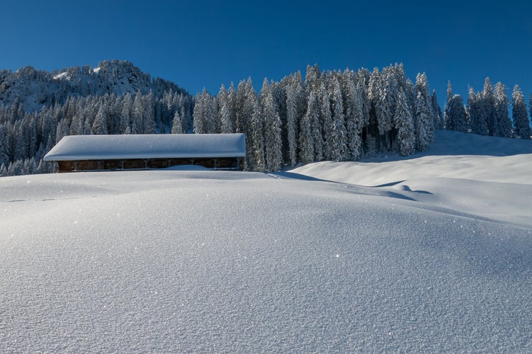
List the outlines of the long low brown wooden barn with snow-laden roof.
<svg viewBox="0 0 532 354">
<path fill-rule="evenodd" d="M 244 134 L 69 135 L 46 154 L 59 172 L 165 169 L 198 165 L 244 169 Z"/>
</svg>

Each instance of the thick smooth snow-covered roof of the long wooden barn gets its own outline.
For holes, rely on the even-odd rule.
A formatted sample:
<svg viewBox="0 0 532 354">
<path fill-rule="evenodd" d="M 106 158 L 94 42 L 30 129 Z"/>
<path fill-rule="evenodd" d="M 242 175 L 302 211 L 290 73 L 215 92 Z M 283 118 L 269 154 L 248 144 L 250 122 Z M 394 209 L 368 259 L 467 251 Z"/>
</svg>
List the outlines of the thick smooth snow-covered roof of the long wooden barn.
<svg viewBox="0 0 532 354">
<path fill-rule="evenodd" d="M 244 134 L 69 135 L 45 161 L 246 156 Z"/>
</svg>

